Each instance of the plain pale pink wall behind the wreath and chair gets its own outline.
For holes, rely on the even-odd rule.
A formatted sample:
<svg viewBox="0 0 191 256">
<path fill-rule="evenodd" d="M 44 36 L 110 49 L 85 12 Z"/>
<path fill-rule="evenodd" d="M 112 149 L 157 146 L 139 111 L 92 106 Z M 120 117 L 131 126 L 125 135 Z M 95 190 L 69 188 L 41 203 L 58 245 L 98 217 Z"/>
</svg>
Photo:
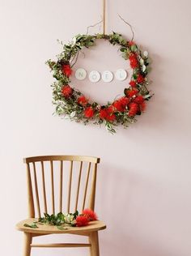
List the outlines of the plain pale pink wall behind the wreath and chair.
<svg viewBox="0 0 191 256">
<path fill-rule="evenodd" d="M 138 122 L 116 135 L 53 117 L 53 79 L 45 66 L 59 53 L 57 38 L 70 41 L 100 19 L 101 1 L 0 1 L 3 255 L 21 255 L 22 234 L 14 225 L 27 215 L 22 158 L 40 154 L 101 157 L 96 211 L 108 229 L 100 233 L 100 255 L 191 255 L 191 4 L 108 2 L 108 32 L 131 36 L 120 13 L 134 26 L 138 45 L 151 53 L 155 92 Z M 106 60 L 108 69 L 117 58 L 114 52 Z M 105 65 L 94 64 L 97 70 Z M 63 254 L 34 250 L 32 256 Z"/>
</svg>

